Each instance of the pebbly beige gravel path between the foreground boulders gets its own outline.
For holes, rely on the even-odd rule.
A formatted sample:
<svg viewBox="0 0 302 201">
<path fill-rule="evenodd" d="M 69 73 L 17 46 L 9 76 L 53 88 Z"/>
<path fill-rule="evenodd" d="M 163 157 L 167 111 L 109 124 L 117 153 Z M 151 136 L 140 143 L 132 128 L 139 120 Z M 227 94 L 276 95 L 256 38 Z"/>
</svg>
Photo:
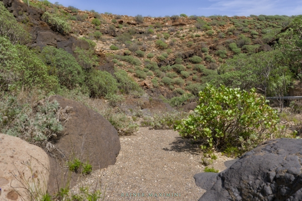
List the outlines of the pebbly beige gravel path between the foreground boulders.
<svg viewBox="0 0 302 201">
<path fill-rule="evenodd" d="M 94 186 L 101 180 L 102 192 L 106 189 L 104 200 L 198 200 L 205 192 L 193 178 L 203 172 L 203 155 L 196 144 L 181 139 L 178 132 L 140 128 L 135 135 L 120 137 L 120 142 L 116 164 L 94 171 L 82 181 L 82 185 Z M 210 167 L 222 171 L 226 168 L 223 162 L 231 158 L 216 155 L 218 159 Z"/>
</svg>

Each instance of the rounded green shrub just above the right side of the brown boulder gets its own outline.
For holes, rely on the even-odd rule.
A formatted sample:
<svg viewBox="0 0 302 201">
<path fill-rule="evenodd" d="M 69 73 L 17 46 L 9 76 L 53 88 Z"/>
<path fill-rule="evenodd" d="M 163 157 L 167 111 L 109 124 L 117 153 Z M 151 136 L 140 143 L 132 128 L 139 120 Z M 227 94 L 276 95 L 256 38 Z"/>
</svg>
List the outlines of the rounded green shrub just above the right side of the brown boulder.
<svg viewBox="0 0 302 201">
<path fill-rule="evenodd" d="M 107 71 L 93 70 L 86 79 L 86 85 L 92 97 L 116 93 L 118 83 Z"/>
</svg>

